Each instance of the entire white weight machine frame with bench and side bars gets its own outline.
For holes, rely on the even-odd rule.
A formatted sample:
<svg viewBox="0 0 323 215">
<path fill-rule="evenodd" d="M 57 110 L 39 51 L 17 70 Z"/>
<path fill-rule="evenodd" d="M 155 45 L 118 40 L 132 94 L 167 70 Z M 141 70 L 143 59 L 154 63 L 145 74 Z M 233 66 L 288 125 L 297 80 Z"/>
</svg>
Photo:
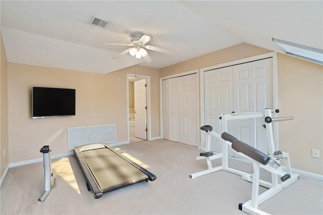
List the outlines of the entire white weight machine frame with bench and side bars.
<svg viewBox="0 0 323 215">
<path fill-rule="evenodd" d="M 221 116 L 221 129 L 223 133 L 227 133 L 228 130 L 228 121 L 229 120 L 240 120 L 240 119 L 252 119 L 252 118 L 264 118 L 265 124 L 263 127 L 266 129 L 266 136 L 267 136 L 267 144 L 268 144 L 268 157 L 270 157 L 270 162 L 268 164 L 261 164 L 254 160 L 252 157 L 249 157 L 246 154 L 238 152 L 234 148 L 232 148 L 232 142 L 234 139 L 223 139 L 222 136 L 217 134 L 216 132 L 212 131 L 211 126 L 202 126 L 201 130 L 206 132 L 206 151 L 200 153 L 196 159 L 206 159 L 207 162 L 207 170 L 200 171 L 198 173 L 194 173 L 190 175 L 190 178 L 196 178 L 199 176 L 203 176 L 205 174 L 213 173 L 219 170 L 224 170 L 227 172 L 231 172 L 237 175 L 242 176 L 242 179 L 252 182 L 252 198 L 250 201 L 246 203 L 240 203 L 239 209 L 250 213 L 250 214 L 263 214 L 264 212 L 257 209 L 258 205 L 262 202 L 266 201 L 267 199 L 271 198 L 272 196 L 279 193 L 281 190 L 285 189 L 295 181 L 299 179 L 298 174 L 292 173 L 289 154 L 287 152 L 282 152 L 277 150 L 277 146 L 274 143 L 274 135 L 273 135 L 273 122 L 279 121 L 286 121 L 286 120 L 293 120 L 294 117 L 283 117 L 283 118 L 273 118 L 273 113 L 271 109 L 265 109 L 264 113 L 261 112 L 254 112 L 254 113 L 240 113 L 240 114 L 231 114 L 231 115 L 223 115 Z M 276 110 L 275 113 L 279 113 L 279 110 Z M 211 135 L 218 138 L 222 144 L 222 152 L 218 154 L 213 154 L 210 151 L 210 139 Z M 240 141 L 241 142 L 241 141 Z M 244 143 L 245 144 L 245 143 Z M 248 145 L 248 144 L 246 144 Z M 243 157 L 250 158 L 253 161 L 253 172 L 252 174 L 248 174 L 239 170 L 235 170 L 230 168 L 228 165 L 228 146 L 230 146 L 236 153 L 242 155 Z M 249 146 L 249 145 L 248 145 Z M 249 146 L 252 147 L 252 146 Z M 255 149 L 255 148 L 254 148 Z M 255 149 L 257 150 L 257 149 Z M 259 151 L 259 150 L 257 150 Z M 262 152 L 261 152 L 262 153 Z M 211 160 L 222 158 L 222 165 L 218 167 L 212 167 Z M 286 164 L 286 171 L 283 171 L 280 160 L 284 159 Z M 266 182 L 259 179 L 260 168 L 268 171 L 271 173 L 272 181 Z M 288 180 L 284 180 L 284 182 L 280 182 L 278 176 L 289 175 Z M 259 192 L 259 185 L 268 188 L 267 191 L 258 195 Z"/>
</svg>

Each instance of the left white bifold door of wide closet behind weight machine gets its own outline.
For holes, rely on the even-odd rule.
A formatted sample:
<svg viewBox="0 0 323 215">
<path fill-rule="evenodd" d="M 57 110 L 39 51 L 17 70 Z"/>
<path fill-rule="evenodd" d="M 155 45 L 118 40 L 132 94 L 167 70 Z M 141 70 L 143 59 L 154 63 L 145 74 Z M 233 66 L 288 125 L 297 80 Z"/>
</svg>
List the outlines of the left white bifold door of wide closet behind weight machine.
<svg viewBox="0 0 323 215">
<path fill-rule="evenodd" d="M 220 116 L 233 111 L 232 67 L 225 67 L 204 73 L 204 122 L 221 134 Z M 229 133 L 233 132 L 233 122 L 228 123 Z M 201 135 L 205 135 L 202 133 Z M 202 146 L 202 148 L 205 146 Z M 211 150 L 221 152 L 220 141 L 211 137 Z"/>
</svg>

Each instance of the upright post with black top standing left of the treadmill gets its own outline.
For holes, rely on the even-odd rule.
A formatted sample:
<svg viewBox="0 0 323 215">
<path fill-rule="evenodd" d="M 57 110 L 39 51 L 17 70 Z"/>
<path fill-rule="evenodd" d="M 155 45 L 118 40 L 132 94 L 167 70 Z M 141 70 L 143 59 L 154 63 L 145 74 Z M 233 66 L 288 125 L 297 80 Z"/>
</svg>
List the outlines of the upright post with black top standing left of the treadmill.
<svg viewBox="0 0 323 215">
<path fill-rule="evenodd" d="M 51 160 L 50 160 L 50 149 L 48 145 L 44 145 L 40 152 L 43 156 L 44 161 L 44 193 L 39 197 L 38 201 L 45 201 L 46 197 L 49 195 L 51 189 L 54 188 L 52 173 L 51 173 Z"/>
</svg>

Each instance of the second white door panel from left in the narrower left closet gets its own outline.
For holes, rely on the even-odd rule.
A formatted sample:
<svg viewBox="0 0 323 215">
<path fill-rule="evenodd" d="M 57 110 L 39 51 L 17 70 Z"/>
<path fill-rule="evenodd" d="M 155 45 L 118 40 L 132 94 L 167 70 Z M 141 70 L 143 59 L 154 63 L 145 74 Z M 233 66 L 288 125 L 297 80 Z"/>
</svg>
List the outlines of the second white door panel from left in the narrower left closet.
<svg viewBox="0 0 323 215">
<path fill-rule="evenodd" d="M 169 131 L 171 141 L 179 142 L 178 134 L 178 78 L 169 79 Z"/>
</svg>

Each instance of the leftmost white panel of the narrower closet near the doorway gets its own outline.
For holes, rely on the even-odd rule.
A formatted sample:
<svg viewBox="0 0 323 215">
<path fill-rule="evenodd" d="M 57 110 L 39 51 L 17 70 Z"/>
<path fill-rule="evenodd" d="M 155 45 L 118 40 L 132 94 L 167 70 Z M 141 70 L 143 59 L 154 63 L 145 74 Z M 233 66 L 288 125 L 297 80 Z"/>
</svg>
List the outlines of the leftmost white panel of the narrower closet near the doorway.
<svg viewBox="0 0 323 215">
<path fill-rule="evenodd" d="M 170 139 L 169 79 L 163 80 L 163 136 Z"/>
</svg>

